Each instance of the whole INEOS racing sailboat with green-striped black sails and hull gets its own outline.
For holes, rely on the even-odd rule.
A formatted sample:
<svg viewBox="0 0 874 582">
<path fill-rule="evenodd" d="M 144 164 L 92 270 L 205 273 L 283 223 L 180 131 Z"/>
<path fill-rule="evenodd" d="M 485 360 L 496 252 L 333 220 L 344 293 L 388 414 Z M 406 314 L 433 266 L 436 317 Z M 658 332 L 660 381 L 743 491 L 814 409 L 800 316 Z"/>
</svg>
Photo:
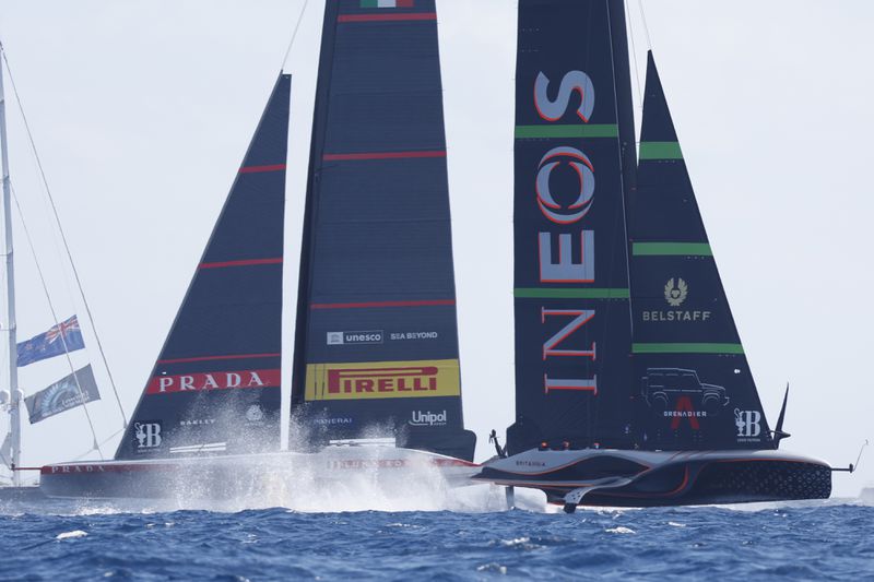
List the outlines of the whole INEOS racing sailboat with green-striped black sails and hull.
<svg viewBox="0 0 874 582">
<path fill-rule="evenodd" d="M 651 51 L 635 147 L 623 0 L 520 0 L 516 421 L 475 478 L 572 512 L 827 498 L 778 450 Z"/>
</svg>

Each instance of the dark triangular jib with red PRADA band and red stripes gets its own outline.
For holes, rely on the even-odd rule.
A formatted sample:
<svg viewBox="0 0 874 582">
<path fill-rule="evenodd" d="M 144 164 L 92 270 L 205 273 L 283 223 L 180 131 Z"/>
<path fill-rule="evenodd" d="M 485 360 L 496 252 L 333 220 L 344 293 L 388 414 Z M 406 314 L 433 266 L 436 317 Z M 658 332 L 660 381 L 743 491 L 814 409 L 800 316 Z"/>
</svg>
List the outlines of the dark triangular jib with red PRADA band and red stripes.
<svg viewBox="0 0 874 582">
<path fill-rule="evenodd" d="M 280 448 L 291 75 L 280 75 L 117 459 Z"/>
</svg>

